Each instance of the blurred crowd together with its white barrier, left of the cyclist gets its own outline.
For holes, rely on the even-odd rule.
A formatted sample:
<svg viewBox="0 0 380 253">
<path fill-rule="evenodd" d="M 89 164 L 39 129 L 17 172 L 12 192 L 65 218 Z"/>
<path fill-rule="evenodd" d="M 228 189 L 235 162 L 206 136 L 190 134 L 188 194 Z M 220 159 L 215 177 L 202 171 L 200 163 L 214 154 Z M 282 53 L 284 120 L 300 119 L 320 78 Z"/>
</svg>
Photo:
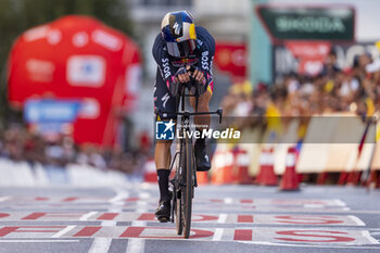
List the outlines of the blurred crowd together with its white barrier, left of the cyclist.
<svg viewBox="0 0 380 253">
<path fill-rule="evenodd" d="M 0 130 L 0 186 L 118 185 L 141 180 L 147 149 L 122 152 L 47 138 L 21 125 Z"/>
</svg>

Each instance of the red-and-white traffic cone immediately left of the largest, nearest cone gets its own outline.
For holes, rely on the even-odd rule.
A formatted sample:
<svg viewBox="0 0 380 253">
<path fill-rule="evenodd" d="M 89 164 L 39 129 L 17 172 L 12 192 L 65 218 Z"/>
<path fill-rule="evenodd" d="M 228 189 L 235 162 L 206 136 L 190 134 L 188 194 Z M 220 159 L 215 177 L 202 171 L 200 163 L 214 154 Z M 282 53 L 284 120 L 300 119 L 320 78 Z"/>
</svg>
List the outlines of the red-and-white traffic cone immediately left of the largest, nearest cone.
<svg viewBox="0 0 380 253">
<path fill-rule="evenodd" d="M 256 182 L 262 186 L 277 186 L 278 179 L 274 166 L 274 148 L 263 149 L 259 156 L 259 173 Z"/>
</svg>

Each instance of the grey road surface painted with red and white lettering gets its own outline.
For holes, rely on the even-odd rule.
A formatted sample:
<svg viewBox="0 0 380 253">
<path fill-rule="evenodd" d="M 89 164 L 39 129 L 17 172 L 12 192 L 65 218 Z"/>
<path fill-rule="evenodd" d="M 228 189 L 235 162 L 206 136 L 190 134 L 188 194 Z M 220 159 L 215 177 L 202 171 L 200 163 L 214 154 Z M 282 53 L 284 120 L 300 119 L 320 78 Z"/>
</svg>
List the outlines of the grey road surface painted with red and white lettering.
<svg viewBox="0 0 380 253">
<path fill-rule="evenodd" d="M 195 190 L 192 232 L 160 224 L 155 185 L 0 188 L 0 253 L 380 252 L 380 191 Z"/>
</svg>

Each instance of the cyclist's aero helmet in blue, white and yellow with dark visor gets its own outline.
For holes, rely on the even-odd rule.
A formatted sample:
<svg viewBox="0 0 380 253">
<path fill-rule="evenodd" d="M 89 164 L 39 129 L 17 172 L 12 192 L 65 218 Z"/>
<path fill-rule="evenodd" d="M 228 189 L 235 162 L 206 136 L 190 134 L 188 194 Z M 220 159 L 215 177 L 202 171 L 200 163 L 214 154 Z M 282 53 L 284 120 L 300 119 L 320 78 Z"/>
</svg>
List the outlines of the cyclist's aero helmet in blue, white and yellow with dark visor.
<svg viewBox="0 0 380 253">
<path fill-rule="evenodd" d="M 161 34 L 172 56 L 186 58 L 195 49 L 195 25 L 188 11 L 167 13 L 161 23 Z"/>
</svg>

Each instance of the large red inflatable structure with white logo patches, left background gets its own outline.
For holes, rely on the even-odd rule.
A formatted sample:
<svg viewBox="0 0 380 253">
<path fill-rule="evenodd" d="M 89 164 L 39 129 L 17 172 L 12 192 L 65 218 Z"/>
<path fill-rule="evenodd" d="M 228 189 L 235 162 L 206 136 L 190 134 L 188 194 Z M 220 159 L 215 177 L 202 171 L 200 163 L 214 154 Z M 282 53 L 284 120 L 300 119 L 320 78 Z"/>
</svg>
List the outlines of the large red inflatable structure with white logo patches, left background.
<svg viewBox="0 0 380 253">
<path fill-rule="evenodd" d="M 74 123 L 75 141 L 112 147 L 123 117 L 135 106 L 139 69 L 139 48 L 126 35 L 93 17 L 67 15 L 28 29 L 15 41 L 9 100 L 22 109 L 31 97 L 58 99 L 48 106 L 52 102 L 28 103 L 27 121 L 36 115 L 52 119 L 49 112 L 63 104 L 67 114 L 60 116 L 73 116 L 73 104 L 62 100 L 77 100 L 83 106 Z"/>
</svg>

